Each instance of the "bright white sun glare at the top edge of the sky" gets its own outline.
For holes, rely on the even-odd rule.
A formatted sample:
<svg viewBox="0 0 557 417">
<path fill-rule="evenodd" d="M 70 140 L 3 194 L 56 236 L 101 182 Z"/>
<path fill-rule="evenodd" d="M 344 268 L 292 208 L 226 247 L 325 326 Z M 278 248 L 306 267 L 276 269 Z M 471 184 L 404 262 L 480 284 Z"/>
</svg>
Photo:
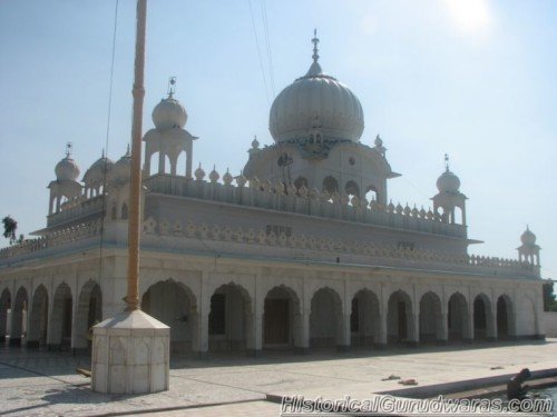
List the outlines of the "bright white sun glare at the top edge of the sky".
<svg viewBox="0 0 557 417">
<path fill-rule="evenodd" d="M 486 0 L 443 0 L 458 29 L 480 32 L 487 29 L 490 17 Z"/>
</svg>

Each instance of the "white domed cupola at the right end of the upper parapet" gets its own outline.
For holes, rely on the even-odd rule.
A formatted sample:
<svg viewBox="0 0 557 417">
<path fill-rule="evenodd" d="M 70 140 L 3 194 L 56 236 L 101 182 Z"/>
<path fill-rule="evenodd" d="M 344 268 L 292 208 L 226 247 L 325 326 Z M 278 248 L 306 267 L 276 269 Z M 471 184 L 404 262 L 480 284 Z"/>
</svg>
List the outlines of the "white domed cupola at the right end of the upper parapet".
<svg viewBox="0 0 557 417">
<path fill-rule="evenodd" d="M 467 197 L 460 192 L 460 179 L 449 169 L 449 156 L 444 155 L 444 172 L 437 179 L 438 193 L 432 198 L 433 211 L 441 216 L 443 221 L 457 224 L 456 208 L 462 214 L 461 224 L 466 226 L 466 200 Z M 440 212 L 439 209 L 442 209 Z"/>
</svg>

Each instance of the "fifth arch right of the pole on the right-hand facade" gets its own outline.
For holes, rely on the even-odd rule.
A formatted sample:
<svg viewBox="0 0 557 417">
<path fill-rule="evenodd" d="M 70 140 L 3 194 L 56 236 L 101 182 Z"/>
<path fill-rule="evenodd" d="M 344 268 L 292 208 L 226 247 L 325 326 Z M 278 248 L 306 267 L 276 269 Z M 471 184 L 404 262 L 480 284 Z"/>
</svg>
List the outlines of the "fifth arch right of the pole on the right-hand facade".
<svg viewBox="0 0 557 417">
<path fill-rule="evenodd" d="M 381 316 L 378 296 L 369 289 L 361 289 L 352 298 L 350 334 L 352 346 L 371 347 L 381 339 Z"/>
</svg>

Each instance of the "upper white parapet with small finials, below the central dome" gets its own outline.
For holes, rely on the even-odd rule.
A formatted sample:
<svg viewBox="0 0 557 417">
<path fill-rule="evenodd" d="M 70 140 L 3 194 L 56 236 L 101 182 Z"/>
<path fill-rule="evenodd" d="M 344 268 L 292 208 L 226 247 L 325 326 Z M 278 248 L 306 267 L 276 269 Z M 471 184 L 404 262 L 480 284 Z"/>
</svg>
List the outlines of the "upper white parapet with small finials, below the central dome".
<svg viewBox="0 0 557 417">
<path fill-rule="evenodd" d="M 199 176 L 201 177 L 201 176 Z M 247 180 L 245 177 L 233 178 L 227 173 L 224 183 L 218 182 L 218 173 L 209 175 L 211 181 L 195 180 L 169 175 L 156 175 L 145 179 L 144 185 L 150 192 L 198 198 L 217 202 L 227 202 L 245 207 L 287 211 L 300 215 L 325 217 L 345 221 L 414 230 L 428 234 L 466 238 L 463 225 L 449 224 L 431 209 L 426 211 L 407 203 L 384 206 L 378 201 L 368 201 L 358 197 L 349 198 L 338 192 L 329 193 L 305 187 L 296 189 L 293 185 L 284 189 L 278 181 Z"/>
</svg>

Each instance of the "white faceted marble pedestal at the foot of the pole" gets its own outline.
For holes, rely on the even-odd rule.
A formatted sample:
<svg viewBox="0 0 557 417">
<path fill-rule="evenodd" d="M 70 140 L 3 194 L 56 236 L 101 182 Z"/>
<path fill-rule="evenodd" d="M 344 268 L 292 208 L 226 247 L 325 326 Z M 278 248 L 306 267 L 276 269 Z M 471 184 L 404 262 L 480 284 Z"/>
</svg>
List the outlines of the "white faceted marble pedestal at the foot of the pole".
<svg viewBox="0 0 557 417">
<path fill-rule="evenodd" d="M 91 389 L 148 394 L 168 389 L 170 328 L 141 310 L 92 328 Z"/>
</svg>

